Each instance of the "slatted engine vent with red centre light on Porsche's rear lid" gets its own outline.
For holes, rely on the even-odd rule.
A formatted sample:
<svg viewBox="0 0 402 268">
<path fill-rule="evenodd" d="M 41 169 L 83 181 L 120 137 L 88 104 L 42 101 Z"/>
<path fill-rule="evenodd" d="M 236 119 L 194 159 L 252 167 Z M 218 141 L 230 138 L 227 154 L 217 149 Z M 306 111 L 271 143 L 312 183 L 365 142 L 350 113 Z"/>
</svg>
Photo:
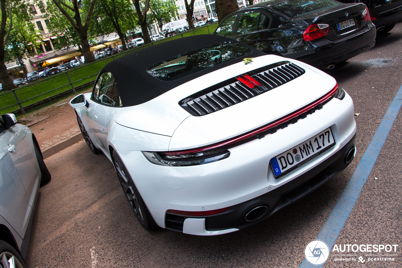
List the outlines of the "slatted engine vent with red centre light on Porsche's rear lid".
<svg viewBox="0 0 402 268">
<path fill-rule="evenodd" d="M 227 80 L 223 87 L 219 83 L 209 91 L 204 89 L 181 100 L 179 105 L 192 115 L 207 115 L 275 89 L 305 72 L 291 62 L 278 62 Z"/>
</svg>

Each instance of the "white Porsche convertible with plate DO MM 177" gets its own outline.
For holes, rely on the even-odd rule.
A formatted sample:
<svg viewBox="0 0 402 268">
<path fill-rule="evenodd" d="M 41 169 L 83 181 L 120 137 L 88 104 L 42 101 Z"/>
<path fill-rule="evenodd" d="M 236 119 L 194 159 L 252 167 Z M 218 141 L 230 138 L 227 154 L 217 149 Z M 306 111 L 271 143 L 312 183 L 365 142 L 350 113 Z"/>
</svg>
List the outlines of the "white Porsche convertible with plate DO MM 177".
<svg viewBox="0 0 402 268">
<path fill-rule="evenodd" d="M 226 37 L 185 37 L 123 56 L 70 105 L 146 229 L 238 231 L 355 156 L 353 101 L 334 78 Z"/>
</svg>

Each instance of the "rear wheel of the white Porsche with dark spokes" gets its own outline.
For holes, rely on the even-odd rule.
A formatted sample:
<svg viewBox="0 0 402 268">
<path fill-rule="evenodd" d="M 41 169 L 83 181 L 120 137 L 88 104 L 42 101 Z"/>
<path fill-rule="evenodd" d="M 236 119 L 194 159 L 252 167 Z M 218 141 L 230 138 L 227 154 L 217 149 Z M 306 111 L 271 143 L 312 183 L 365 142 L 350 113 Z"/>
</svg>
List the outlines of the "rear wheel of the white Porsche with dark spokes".
<svg viewBox="0 0 402 268">
<path fill-rule="evenodd" d="M 121 161 L 120 157 L 115 151 L 113 151 L 113 164 L 117 172 L 117 177 L 119 177 L 121 187 L 123 188 L 123 192 L 130 204 L 131 210 L 134 212 L 135 217 L 137 217 L 137 220 L 145 229 L 156 229 L 158 225 L 156 225 L 151 213 L 144 203 L 144 200 L 142 200 L 142 197 L 135 187 L 133 180 L 123 164 L 123 161 Z"/>
</svg>

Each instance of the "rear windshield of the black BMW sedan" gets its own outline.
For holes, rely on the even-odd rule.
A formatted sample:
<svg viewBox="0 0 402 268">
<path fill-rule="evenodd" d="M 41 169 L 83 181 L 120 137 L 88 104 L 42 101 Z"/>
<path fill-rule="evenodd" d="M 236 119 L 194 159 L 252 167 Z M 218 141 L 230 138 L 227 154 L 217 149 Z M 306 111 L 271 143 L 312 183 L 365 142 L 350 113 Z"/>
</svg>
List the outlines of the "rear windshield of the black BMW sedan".
<svg viewBox="0 0 402 268">
<path fill-rule="evenodd" d="M 273 5 L 272 8 L 297 18 L 338 5 L 340 3 L 332 0 L 287 0 Z"/>
</svg>

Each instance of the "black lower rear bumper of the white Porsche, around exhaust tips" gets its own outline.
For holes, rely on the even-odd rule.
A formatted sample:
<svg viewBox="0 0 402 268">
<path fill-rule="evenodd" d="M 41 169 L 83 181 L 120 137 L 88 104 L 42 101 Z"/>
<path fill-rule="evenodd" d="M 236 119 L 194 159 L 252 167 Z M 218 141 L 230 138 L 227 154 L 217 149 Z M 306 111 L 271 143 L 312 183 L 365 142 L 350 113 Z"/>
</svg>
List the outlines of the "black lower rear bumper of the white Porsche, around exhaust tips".
<svg viewBox="0 0 402 268">
<path fill-rule="evenodd" d="M 346 146 L 320 163 L 314 169 L 307 171 L 303 175 L 289 181 L 275 190 L 246 202 L 231 206 L 228 208 L 228 211 L 224 213 L 211 216 L 183 216 L 166 213 L 165 228 L 182 232 L 183 223 L 187 218 L 205 219 L 205 229 L 207 231 L 218 231 L 232 228 L 242 229 L 264 221 L 279 209 L 288 206 L 307 194 L 310 194 L 326 183 L 330 178 L 343 171 L 349 165 L 345 163 L 345 156 L 349 149 L 354 146 L 355 136 L 353 136 Z M 244 214 L 253 207 L 261 204 L 268 206 L 267 213 L 256 221 L 245 221 Z"/>
</svg>

